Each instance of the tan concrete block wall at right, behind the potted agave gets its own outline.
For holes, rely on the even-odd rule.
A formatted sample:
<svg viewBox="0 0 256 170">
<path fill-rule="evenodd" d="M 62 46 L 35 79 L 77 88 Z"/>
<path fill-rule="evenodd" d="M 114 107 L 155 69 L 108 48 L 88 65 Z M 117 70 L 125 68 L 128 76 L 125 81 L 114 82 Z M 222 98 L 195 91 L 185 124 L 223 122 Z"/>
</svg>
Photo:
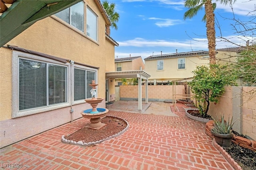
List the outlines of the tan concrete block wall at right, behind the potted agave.
<svg viewBox="0 0 256 170">
<path fill-rule="evenodd" d="M 256 141 L 256 87 L 226 87 L 217 104 L 210 103 L 209 115 L 233 116 L 233 129 Z"/>
</svg>

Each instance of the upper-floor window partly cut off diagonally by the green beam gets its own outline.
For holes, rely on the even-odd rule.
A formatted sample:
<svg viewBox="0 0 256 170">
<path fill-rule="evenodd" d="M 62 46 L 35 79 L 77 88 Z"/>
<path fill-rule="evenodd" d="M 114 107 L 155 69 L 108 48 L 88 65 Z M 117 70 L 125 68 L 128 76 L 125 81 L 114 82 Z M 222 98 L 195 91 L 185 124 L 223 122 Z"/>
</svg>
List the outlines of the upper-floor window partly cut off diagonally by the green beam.
<svg viewBox="0 0 256 170">
<path fill-rule="evenodd" d="M 55 14 L 58 18 L 84 32 L 84 2 L 79 2 Z"/>
</svg>

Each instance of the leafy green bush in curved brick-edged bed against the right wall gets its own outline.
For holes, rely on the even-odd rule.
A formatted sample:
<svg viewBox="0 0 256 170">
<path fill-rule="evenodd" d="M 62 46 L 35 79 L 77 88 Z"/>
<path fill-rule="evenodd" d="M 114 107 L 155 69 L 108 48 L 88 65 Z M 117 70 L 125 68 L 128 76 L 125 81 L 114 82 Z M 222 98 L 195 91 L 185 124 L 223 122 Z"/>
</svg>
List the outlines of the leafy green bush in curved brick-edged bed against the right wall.
<svg viewBox="0 0 256 170">
<path fill-rule="evenodd" d="M 199 113 L 207 117 L 210 102 L 218 102 L 218 97 L 225 92 L 225 86 L 236 85 L 237 72 L 228 65 L 211 64 L 197 66 L 193 74 L 193 80 L 188 85 L 198 101 Z"/>
</svg>

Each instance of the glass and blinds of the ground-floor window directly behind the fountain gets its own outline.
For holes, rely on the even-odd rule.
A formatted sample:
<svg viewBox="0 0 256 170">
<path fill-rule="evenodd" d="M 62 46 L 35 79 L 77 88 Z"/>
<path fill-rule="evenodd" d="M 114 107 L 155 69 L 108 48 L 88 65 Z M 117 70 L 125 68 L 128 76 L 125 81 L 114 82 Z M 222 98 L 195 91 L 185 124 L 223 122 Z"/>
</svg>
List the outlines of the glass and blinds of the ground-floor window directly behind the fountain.
<svg viewBox="0 0 256 170">
<path fill-rule="evenodd" d="M 96 80 L 96 72 L 74 68 L 74 101 L 91 98 L 92 80 Z"/>
</svg>

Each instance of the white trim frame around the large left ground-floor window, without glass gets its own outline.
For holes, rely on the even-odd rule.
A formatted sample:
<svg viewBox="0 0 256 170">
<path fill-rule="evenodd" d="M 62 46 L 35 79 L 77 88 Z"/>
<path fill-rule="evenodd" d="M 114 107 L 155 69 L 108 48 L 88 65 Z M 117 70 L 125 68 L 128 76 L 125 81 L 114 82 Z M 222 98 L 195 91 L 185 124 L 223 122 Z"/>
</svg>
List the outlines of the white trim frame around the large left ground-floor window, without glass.
<svg viewBox="0 0 256 170">
<path fill-rule="evenodd" d="M 63 104 L 56 104 L 52 106 L 38 107 L 32 109 L 26 109 L 19 111 L 19 58 L 42 61 L 52 64 L 59 64 L 62 66 L 67 66 L 67 102 Z M 36 113 L 42 113 L 54 109 L 59 109 L 63 107 L 71 106 L 71 81 L 70 81 L 70 63 L 61 63 L 52 59 L 47 59 L 37 55 L 24 53 L 21 51 L 12 51 L 12 118 L 22 117 L 27 115 L 32 115 Z"/>
</svg>

